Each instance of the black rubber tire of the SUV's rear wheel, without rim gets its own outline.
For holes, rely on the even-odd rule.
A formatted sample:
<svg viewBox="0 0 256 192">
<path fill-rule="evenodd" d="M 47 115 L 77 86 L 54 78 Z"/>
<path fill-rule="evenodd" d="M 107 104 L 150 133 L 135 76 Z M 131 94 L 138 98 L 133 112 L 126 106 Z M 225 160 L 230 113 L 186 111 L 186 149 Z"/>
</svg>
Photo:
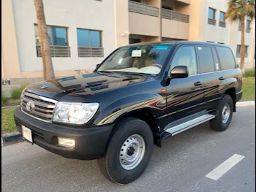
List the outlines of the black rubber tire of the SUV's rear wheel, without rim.
<svg viewBox="0 0 256 192">
<path fill-rule="evenodd" d="M 225 123 L 222 122 L 222 110 L 224 109 L 225 105 L 230 107 L 230 115 L 229 118 Z M 211 128 L 215 131 L 225 131 L 227 127 L 230 125 L 230 121 L 233 116 L 233 100 L 229 95 L 224 95 L 222 101 L 219 103 L 219 107 L 217 109 L 217 117 L 210 121 Z"/>
</svg>

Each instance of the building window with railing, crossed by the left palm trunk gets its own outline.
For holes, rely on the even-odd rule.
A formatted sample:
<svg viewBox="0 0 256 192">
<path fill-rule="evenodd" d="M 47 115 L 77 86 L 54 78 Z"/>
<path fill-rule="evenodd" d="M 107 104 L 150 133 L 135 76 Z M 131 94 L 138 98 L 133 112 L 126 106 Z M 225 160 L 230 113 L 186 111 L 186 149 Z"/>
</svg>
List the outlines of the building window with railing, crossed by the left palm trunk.
<svg viewBox="0 0 256 192">
<path fill-rule="evenodd" d="M 41 57 L 41 47 L 37 24 L 34 25 L 37 57 Z M 69 57 L 70 50 L 67 40 L 67 28 L 57 26 L 47 26 L 48 39 L 52 57 Z"/>
</svg>

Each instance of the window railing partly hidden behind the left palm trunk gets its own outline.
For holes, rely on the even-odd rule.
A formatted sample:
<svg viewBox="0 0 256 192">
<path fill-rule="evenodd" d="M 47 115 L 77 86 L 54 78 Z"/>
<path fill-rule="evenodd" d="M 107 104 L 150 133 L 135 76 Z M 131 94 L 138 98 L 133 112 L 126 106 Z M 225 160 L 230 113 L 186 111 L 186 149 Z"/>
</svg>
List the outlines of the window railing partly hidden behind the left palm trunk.
<svg viewBox="0 0 256 192">
<path fill-rule="evenodd" d="M 42 57 L 41 46 L 37 45 L 37 57 Z M 69 58 L 70 47 L 68 46 L 50 46 L 50 55 L 53 58 Z"/>
</svg>

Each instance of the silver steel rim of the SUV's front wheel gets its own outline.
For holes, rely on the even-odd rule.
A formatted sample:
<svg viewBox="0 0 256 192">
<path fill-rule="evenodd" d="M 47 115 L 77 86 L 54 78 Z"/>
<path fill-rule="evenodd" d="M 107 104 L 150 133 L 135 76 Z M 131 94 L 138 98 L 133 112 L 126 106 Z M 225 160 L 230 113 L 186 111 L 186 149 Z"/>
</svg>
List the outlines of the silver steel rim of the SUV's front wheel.
<svg viewBox="0 0 256 192">
<path fill-rule="evenodd" d="M 121 146 L 119 161 L 121 166 L 126 170 L 135 169 L 140 164 L 145 154 L 145 141 L 138 134 L 125 139 Z"/>
</svg>

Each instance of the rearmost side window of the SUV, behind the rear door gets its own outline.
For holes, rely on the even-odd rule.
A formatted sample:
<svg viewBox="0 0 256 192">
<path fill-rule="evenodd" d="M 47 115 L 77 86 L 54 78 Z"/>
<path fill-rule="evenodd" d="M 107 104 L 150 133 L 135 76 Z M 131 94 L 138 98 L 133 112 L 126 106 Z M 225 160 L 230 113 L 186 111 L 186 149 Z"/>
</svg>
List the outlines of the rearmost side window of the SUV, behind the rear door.
<svg viewBox="0 0 256 192">
<path fill-rule="evenodd" d="M 235 69 L 236 61 L 230 48 L 217 47 L 222 70 Z"/>
</svg>

